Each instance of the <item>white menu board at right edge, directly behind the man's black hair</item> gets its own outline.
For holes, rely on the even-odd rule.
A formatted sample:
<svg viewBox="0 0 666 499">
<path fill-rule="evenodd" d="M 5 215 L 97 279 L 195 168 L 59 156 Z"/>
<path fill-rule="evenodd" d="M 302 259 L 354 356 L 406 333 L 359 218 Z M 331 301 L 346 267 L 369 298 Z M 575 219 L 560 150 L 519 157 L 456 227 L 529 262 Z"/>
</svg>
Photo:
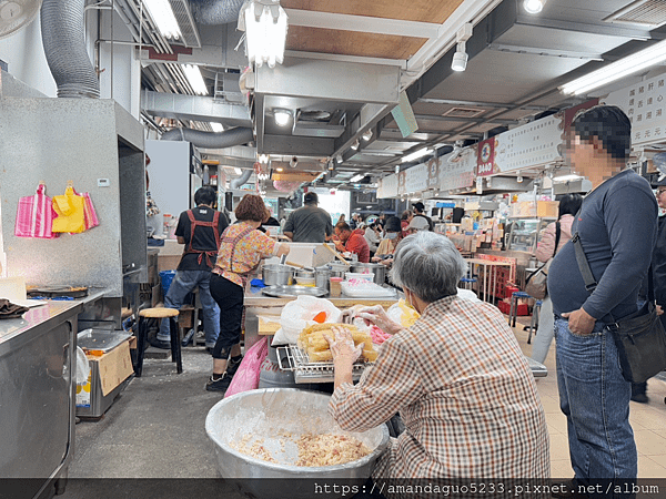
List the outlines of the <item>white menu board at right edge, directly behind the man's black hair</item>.
<svg viewBox="0 0 666 499">
<path fill-rule="evenodd" d="M 666 141 L 666 75 L 650 78 L 604 99 L 617 105 L 632 122 L 632 146 Z"/>
</svg>

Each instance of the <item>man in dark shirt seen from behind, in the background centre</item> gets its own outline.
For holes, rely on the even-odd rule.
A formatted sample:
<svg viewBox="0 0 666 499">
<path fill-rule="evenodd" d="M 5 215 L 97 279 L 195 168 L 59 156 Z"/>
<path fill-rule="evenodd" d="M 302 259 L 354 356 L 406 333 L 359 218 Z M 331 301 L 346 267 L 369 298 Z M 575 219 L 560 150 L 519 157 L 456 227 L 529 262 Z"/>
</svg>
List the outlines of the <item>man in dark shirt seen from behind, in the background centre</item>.
<svg viewBox="0 0 666 499">
<path fill-rule="evenodd" d="M 319 196 L 307 192 L 303 196 L 303 206 L 289 215 L 284 230 L 285 236 L 294 243 L 323 243 L 333 235 L 331 215 L 317 206 Z"/>
</svg>

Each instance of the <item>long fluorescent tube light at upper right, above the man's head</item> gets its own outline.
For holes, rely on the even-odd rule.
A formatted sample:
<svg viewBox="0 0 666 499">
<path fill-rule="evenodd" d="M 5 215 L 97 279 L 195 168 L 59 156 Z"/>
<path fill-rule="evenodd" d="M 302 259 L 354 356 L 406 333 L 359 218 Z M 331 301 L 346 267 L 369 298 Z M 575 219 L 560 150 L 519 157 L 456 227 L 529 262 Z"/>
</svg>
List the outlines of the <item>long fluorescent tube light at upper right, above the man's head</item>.
<svg viewBox="0 0 666 499">
<path fill-rule="evenodd" d="M 573 80 L 559 86 L 559 90 L 563 93 L 581 95 L 664 61 L 666 61 L 666 41 L 660 41 L 619 61 L 615 61 L 601 70 Z"/>
</svg>

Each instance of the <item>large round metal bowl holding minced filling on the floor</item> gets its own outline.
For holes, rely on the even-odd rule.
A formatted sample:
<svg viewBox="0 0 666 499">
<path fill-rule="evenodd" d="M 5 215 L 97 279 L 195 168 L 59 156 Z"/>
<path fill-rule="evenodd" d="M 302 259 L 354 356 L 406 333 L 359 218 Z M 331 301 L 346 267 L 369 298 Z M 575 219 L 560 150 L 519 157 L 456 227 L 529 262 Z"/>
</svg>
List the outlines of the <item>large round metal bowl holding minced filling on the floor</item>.
<svg viewBox="0 0 666 499">
<path fill-rule="evenodd" d="M 343 431 L 327 413 L 330 398 L 317 391 L 264 388 L 220 400 L 205 418 L 205 431 L 214 444 L 220 475 L 225 479 L 242 479 L 239 485 L 246 492 L 262 499 L 312 498 L 313 491 L 307 487 L 294 489 L 293 480 L 256 480 L 258 478 L 349 479 L 363 483 L 389 444 L 389 429 L 386 425 L 382 425 L 363 432 Z M 304 432 L 331 431 L 357 438 L 372 452 L 344 465 L 300 467 L 256 459 L 230 445 L 239 444 L 245 435 L 251 434 L 253 438 L 263 439 L 263 446 L 272 451 L 275 459 L 289 461 L 295 456 L 290 455 L 289 446 L 286 452 L 281 451 L 283 447 L 278 435 L 287 432 L 297 438 Z"/>
</svg>

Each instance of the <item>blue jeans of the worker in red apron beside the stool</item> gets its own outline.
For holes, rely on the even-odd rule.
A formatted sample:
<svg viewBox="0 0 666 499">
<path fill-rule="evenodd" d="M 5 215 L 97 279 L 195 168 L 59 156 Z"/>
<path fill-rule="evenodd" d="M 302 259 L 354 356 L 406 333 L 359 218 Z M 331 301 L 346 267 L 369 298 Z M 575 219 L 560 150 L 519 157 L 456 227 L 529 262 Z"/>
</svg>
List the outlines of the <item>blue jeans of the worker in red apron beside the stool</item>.
<svg viewBox="0 0 666 499">
<path fill-rule="evenodd" d="M 199 301 L 203 308 L 205 346 L 212 348 L 220 336 L 220 308 L 211 295 L 211 271 L 178 271 L 164 297 L 164 306 L 180 310 L 188 293 L 196 286 L 199 286 Z M 163 319 L 160 324 L 158 339 L 171 342 L 169 319 Z"/>
</svg>

